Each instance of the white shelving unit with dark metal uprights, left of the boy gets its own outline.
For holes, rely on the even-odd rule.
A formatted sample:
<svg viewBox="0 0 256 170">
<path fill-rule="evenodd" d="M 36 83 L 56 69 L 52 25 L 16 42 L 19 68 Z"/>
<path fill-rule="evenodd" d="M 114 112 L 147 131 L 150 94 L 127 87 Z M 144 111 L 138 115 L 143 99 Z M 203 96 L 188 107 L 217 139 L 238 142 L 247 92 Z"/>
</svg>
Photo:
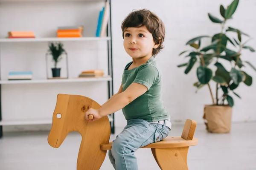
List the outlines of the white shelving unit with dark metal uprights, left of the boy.
<svg viewBox="0 0 256 170">
<path fill-rule="evenodd" d="M 108 2 L 111 4 L 110 0 L 108 0 Z M 47 6 L 47 3 L 52 5 L 51 8 Z M 88 6 L 85 4 L 88 4 Z M 101 99 L 102 101 L 105 101 L 104 96 L 110 98 L 113 95 L 111 16 L 108 21 L 107 37 L 93 37 L 92 34 L 96 31 L 98 12 L 101 10 L 103 5 L 105 5 L 105 0 L 46 0 L 44 2 L 40 0 L 0 0 L 0 138 L 3 135 L 2 126 L 52 124 L 52 118 L 49 118 L 49 116 L 46 116 L 47 118 L 45 118 L 44 113 L 47 112 L 47 114 L 52 115 L 52 108 L 55 106 L 56 101 L 54 98 L 56 96 L 55 93 L 73 93 L 84 96 L 95 95 L 96 99 Z M 83 6 L 85 9 L 82 9 Z M 71 13 L 67 14 L 66 11 L 69 9 Z M 39 10 L 41 11 L 39 12 Z M 50 10 L 58 11 L 58 13 L 56 13 L 58 19 L 52 19 L 54 13 L 51 13 L 52 11 Z M 97 11 L 95 12 L 95 10 Z M 29 11 L 28 14 L 26 14 L 25 11 Z M 74 25 L 73 20 L 75 20 L 76 17 L 79 17 L 79 14 L 76 14 L 76 12 L 87 12 L 86 14 L 81 14 L 85 20 L 88 20 L 85 21 L 85 23 L 80 24 L 84 25 L 84 37 L 51 37 L 52 33 L 48 33 L 51 32 L 50 28 L 54 29 L 57 26 L 67 25 L 68 21 L 70 21 L 70 25 Z M 52 15 L 49 15 L 49 13 Z M 22 15 L 24 23 L 20 21 L 21 18 L 17 14 Z M 65 16 L 61 18 L 61 14 Z M 44 15 L 46 17 L 44 17 Z M 47 17 L 50 21 L 47 20 Z M 37 20 L 38 18 L 40 18 L 40 21 Z M 33 23 L 34 21 L 35 23 Z M 47 22 L 52 22 L 52 26 Z M 77 18 L 76 25 L 79 25 L 80 22 L 81 19 Z M 42 24 L 43 28 L 38 26 L 38 24 Z M 16 27 L 17 30 L 29 30 L 29 28 L 32 27 L 32 31 L 35 31 L 36 33 L 36 38 L 5 38 L 7 32 L 11 30 L 15 31 Z M 91 36 L 87 36 L 87 34 L 90 34 Z M 68 62 L 72 62 L 73 66 L 70 66 L 72 68 L 68 70 L 73 71 L 73 76 L 71 76 L 71 78 L 42 78 L 42 75 L 44 75 L 43 72 L 46 72 L 45 69 L 42 69 L 44 68 L 42 65 L 45 64 L 42 63 L 42 61 L 45 60 L 45 55 L 42 54 L 42 51 L 47 48 L 47 42 L 55 41 L 66 42 L 67 46 L 64 48 L 70 48 L 71 56 L 69 56 Z M 83 45 L 85 44 L 85 49 L 83 49 L 83 46 L 80 43 L 83 43 Z M 101 44 L 98 45 L 98 43 L 106 43 L 106 49 L 102 47 Z M 91 46 L 96 44 L 98 46 L 87 49 L 88 44 L 91 44 Z M 15 52 L 15 50 L 17 50 L 17 52 Z M 33 51 L 33 53 L 29 50 Z M 80 54 L 80 51 L 82 50 L 85 50 L 85 52 L 81 54 L 81 57 L 79 57 L 78 54 Z M 90 51 L 89 55 L 88 51 Z M 108 67 L 108 73 L 106 76 L 96 78 L 76 78 L 75 75 L 78 75 L 79 72 L 74 70 L 81 67 L 81 63 L 84 61 L 86 61 L 84 63 L 87 64 L 87 67 L 91 66 L 90 62 L 101 61 L 101 59 L 97 60 L 95 59 L 97 57 L 94 57 L 100 56 L 103 53 L 101 51 L 107 52 L 105 55 L 108 58 L 106 60 L 108 63 L 105 63 L 105 60 L 101 63 L 101 65 L 106 64 Z M 26 56 L 27 54 L 29 57 Z M 11 60 L 9 59 L 10 57 L 14 58 Z M 12 69 L 16 67 L 25 68 L 25 66 L 22 66 L 24 61 L 26 61 L 25 63 L 29 68 L 31 65 L 28 63 L 32 63 L 32 61 L 37 64 L 39 63 L 38 67 L 31 67 L 32 69 L 35 69 L 35 72 L 38 71 L 37 73 L 39 78 L 36 77 L 32 80 L 7 80 L 6 73 L 11 71 L 10 67 L 12 67 Z M 98 66 L 98 64 L 96 65 Z M 98 94 L 96 92 L 98 91 L 99 94 L 102 92 L 105 94 L 103 96 L 97 96 Z M 41 101 L 38 101 L 38 96 Z M 42 102 L 46 104 L 42 105 Z M 96 100 L 96 102 L 98 101 Z M 31 113 L 28 113 L 26 118 L 23 119 L 21 114 L 27 112 Z M 114 133 L 114 114 L 111 114 L 108 117 L 111 124 L 111 133 Z"/>
</svg>

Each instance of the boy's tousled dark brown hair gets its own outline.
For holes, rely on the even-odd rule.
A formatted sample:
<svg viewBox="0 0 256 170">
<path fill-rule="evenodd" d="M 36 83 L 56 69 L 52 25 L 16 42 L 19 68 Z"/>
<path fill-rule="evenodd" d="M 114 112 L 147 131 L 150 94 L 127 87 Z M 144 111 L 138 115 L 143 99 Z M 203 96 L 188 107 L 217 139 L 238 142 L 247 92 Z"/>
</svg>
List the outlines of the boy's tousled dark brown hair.
<svg viewBox="0 0 256 170">
<path fill-rule="evenodd" d="M 155 44 L 159 44 L 158 48 L 153 49 L 152 51 L 153 56 L 155 56 L 164 48 L 163 41 L 165 37 L 165 26 L 162 20 L 160 20 L 160 18 L 153 12 L 147 9 L 141 9 L 129 13 L 122 21 L 122 37 L 124 38 L 126 28 L 138 28 L 142 26 L 146 26 L 148 31 L 152 34 Z"/>
</svg>

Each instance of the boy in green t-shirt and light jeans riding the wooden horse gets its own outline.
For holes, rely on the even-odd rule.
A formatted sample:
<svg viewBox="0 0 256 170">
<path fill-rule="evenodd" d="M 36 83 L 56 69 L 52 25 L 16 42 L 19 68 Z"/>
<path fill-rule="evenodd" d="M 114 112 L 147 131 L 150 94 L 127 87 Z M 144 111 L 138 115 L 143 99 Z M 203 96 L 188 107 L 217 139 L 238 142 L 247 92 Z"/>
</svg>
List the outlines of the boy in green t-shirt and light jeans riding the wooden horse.
<svg viewBox="0 0 256 170">
<path fill-rule="evenodd" d="M 122 36 L 132 62 L 125 66 L 119 91 L 102 108 L 89 109 L 85 119 L 94 121 L 122 109 L 127 125 L 113 141 L 109 159 L 115 170 L 138 170 L 134 152 L 166 138 L 172 125 L 163 107 L 162 74 L 154 58 L 163 49 L 165 28 L 157 15 L 143 9 L 125 18 Z M 88 119 L 90 114 L 93 120 Z"/>
</svg>

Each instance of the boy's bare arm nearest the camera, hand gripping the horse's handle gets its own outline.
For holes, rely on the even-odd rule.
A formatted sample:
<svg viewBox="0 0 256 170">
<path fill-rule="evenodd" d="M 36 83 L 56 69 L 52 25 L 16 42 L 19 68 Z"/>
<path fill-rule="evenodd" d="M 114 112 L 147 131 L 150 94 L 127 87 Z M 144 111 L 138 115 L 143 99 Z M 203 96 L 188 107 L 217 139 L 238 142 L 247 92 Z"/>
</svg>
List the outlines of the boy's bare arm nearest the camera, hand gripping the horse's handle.
<svg viewBox="0 0 256 170">
<path fill-rule="evenodd" d="M 113 96 L 111 100 L 108 100 L 108 102 L 102 105 L 102 108 L 99 108 L 98 110 L 90 108 L 85 113 L 85 119 L 92 121 L 88 119 L 90 114 L 93 115 L 93 120 L 97 120 L 103 116 L 119 111 L 146 91 L 148 91 L 148 88 L 145 85 L 132 83 L 124 92 L 121 92 L 116 96 Z"/>
</svg>

